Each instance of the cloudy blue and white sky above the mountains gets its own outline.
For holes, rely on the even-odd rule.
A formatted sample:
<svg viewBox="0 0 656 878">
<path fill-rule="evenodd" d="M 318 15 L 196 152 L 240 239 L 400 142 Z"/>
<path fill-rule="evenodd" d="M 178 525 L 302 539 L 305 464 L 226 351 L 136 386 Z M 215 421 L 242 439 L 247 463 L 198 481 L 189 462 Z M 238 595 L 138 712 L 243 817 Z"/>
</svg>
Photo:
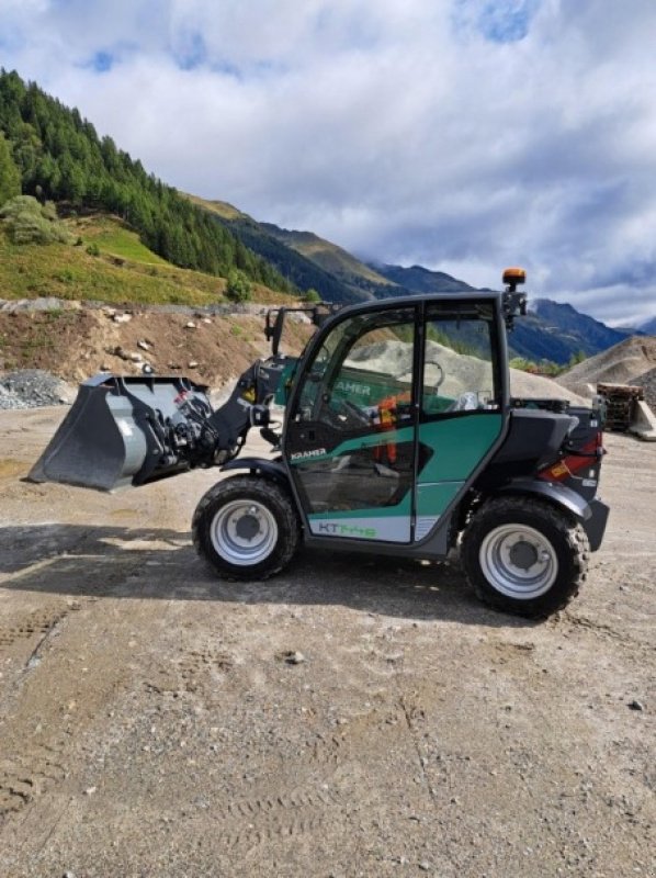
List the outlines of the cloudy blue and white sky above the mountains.
<svg viewBox="0 0 656 878">
<path fill-rule="evenodd" d="M 0 0 L 166 182 L 369 259 L 656 315 L 654 0 Z"/>
</svg>

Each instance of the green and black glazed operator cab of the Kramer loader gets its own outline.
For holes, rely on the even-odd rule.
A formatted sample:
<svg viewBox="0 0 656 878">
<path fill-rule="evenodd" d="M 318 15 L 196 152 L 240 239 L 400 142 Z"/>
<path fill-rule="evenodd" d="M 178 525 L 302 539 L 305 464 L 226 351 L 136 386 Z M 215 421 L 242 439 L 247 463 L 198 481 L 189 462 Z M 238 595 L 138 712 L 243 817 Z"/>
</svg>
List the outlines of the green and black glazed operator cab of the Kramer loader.
<svg viewBox="0 0 656 878">
<path fill-rule="evenodd" d="M 349 308 L 310 345 L 283 457 L 315 536 L 423 539 L 497 440 L 499 296 Z"/>
</svg>

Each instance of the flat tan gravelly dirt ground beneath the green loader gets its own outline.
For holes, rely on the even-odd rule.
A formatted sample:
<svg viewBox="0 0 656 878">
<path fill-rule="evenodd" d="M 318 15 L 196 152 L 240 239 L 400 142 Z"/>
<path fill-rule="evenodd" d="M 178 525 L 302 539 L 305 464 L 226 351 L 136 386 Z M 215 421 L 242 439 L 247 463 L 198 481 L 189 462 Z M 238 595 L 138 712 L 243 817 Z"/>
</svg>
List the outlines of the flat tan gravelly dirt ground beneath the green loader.
<svg viewBox="0 0 656 878">
<path fill-rule="evenodd" d="M 0 412 L 0 875 L 656 875 L 656 444 L 608 436 L 606 542 L 531 623 L 454 563 L 218 585 L 216 473 L 20 481 L 64 413 Z"/>
</svg>

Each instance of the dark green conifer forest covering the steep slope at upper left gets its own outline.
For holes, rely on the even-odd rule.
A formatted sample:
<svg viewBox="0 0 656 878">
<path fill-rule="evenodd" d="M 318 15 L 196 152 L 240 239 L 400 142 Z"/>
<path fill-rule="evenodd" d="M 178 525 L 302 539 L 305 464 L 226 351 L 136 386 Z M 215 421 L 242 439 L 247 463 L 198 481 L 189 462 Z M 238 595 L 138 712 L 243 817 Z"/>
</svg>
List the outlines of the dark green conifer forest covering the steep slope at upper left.
<svg viewBox="0 0 656 878">
<path fill-rule="evenodd" d="M 69 211 L 115 214 L 176 266 L 224 278 L 238 269 L 273 290 L 294 292 L 210 213 L 148 175 L 111 137 L 99 137 L 78 110 L 0 70 L 0 201 L 20 191 Z"/>
</svg>

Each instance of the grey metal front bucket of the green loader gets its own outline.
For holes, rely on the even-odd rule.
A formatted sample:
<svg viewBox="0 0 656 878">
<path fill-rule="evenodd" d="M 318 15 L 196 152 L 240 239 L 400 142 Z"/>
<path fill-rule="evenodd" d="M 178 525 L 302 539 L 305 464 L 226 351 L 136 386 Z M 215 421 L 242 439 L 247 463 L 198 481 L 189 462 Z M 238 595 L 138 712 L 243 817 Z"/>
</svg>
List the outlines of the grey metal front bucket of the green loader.
<svg viewBox="0 0 656 878">
<path fill-rule="evenodd" d="M 190 397 L 212 412 L 204 391 L 178 378 L 89 379 L 29 481 L 112 491 L 189 469 L 170 453 L 166 425 L 184 421 L 180 404 Z"/>
</svg>

